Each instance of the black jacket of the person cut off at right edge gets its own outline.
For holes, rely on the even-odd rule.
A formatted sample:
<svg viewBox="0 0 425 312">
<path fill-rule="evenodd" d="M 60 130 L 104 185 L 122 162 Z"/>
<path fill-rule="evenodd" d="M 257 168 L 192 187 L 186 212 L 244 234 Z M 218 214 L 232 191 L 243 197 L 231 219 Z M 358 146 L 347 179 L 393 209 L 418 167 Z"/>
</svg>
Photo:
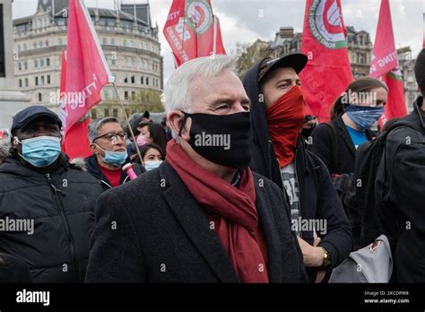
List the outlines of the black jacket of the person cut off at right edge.
<svg viewBox="0 0 425 312">
<path fill-rule="evenodd" d="M 375 194 L 395 260 L 396 282 L 425 282 L 425 112 L 423 98 L 386 137 Z M 395 126 L 394 125 L 394 126 Z"/>
</svg>

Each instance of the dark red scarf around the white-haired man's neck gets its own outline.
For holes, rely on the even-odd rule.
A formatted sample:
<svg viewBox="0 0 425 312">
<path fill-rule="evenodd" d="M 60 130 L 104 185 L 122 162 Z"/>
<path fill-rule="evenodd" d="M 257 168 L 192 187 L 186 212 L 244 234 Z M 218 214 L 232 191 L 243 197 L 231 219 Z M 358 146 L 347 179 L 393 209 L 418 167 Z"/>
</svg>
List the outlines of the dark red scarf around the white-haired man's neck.
<svg viewBox="0 0 425 312">
<path fill-rule="evenodd" d="M 211 215 L 214 230 L 227 250 L 241 282 L 269 282 L 265 257 L 258 244 L 256 189 L 251 169 L 241 172 L 237 187 L 192 160 L 180 144 L 170 140 L 167 161 Z M 218 224 L 218 225 L 217 225 Z"/>
</svg>

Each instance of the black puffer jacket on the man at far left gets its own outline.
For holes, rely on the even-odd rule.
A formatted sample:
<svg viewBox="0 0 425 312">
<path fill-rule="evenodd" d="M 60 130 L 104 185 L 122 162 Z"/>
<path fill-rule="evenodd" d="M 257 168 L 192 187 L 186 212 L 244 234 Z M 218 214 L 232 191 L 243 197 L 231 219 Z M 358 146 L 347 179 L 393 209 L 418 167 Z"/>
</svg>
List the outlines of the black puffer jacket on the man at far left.
<svg viewBox="0 0 425 312">
<path fill-rule="evenodd" d="M 33 282 L 83 282 L 101 192 L 65 154 L 47 174 L 7 158 L 0 166 L 0 219 L 32 220 L 33 231 L 1 230 L 0 252 L 27 264 Z"/>
</svg>

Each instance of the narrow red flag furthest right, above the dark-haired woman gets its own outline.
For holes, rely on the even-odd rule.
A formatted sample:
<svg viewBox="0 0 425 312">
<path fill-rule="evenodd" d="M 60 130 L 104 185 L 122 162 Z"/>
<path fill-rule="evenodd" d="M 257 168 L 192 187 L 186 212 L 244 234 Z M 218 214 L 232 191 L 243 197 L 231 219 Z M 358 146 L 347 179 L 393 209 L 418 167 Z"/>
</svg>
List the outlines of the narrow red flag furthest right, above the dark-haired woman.
<svg viewBox="0 0 425 312">
<path fill-rule="evenodd" d="M 388 119 L 407 115 L 402 73 L 398 69 L 398 56 L 388 0 L 381 1 L 369 75 L 374 78 L 382 77 L 388 86 L 388 100 L 384 108 L 384 115 L 379 119 L 379 125 L 383 126 Z"/>
</svg>

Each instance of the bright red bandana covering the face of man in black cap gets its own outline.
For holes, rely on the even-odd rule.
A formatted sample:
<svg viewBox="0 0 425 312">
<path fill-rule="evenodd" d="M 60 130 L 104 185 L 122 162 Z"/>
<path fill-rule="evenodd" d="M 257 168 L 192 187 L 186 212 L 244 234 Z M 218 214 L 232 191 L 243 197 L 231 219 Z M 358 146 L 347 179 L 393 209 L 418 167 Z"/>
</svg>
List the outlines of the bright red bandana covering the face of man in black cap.
<svg viewBox="0 0 425 312">
<path fill-rule="evenodd" d="M 295 85 L 265 110 L 269 134 L 279 164 L 289 165 L 295 158 L 299 129 L 306 117 L 306 102 L 301 88 Z"/>
</svg>

